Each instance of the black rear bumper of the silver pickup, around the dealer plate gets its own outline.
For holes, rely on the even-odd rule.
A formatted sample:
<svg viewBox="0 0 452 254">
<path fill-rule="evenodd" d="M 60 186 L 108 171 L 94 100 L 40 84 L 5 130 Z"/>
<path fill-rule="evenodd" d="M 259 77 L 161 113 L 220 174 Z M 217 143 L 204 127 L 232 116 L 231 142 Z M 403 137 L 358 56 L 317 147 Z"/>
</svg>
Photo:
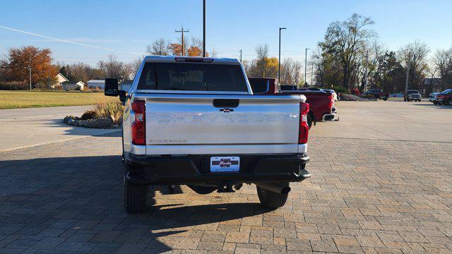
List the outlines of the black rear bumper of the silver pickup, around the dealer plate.
<svg viewBox="0 0 452 254">
<path fill-rule="evenodd" d="M 126 178 L 143 184 L 234 184 L 260 181 L 302 181 L 300 170 L 309 162 L 307 154 L 234 155 L 240 157 L 238 172 L 210 172 L 212 155 L 127 158 Z M 215 155 L 220 156 L 220 155 Z"/>
</svg>

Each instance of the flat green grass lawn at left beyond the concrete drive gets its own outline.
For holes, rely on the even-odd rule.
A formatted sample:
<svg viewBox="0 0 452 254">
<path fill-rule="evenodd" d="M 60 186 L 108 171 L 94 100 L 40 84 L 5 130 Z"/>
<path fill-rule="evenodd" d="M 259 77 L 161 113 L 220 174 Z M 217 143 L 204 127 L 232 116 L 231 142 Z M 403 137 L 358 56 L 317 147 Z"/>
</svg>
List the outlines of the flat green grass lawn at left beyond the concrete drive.
<svg viewBox="0 0 452 254">
<path fill-rule="evenodd" d="M 107 97 L 103 92 L 0 90 L 0 109 L 83 106 L 106 102 L 112 99 L 118 98 Z"/>
</svg>

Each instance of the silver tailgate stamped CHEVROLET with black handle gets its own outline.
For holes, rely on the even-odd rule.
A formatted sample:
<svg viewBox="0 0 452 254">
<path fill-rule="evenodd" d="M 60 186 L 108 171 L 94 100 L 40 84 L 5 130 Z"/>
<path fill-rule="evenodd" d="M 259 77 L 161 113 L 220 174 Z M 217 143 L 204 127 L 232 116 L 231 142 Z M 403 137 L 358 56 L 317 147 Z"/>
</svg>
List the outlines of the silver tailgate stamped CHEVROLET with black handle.
<svg viewBox="0 0 452 254">
<path fill-rule="evenodd" d="M 297 152 L 299 95 L 147 94 L 144 98 L 148 155 Z M 219 102 L 216 107 L 214 101 Z M 239 104 L 228 107 L 230 102 Z"/>
</svg>

